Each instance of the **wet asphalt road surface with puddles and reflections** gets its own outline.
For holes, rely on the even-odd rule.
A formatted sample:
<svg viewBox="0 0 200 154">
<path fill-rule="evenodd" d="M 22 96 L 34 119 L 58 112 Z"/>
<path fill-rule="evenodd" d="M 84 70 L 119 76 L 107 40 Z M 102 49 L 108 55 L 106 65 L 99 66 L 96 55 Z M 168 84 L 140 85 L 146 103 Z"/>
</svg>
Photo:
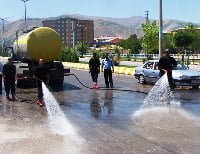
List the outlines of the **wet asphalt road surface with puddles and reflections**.
<svg viewBox="0 0 200 154">
<path fill-rule="evenodd" d="M 92 86 L 87 71 L 72 73 Z M 144 109 L 151 85 L 140 85 L 131 76 L 113 79 L 119 90 L 91 90 L 65 77 L 63 91 L 53 95 L 73 128 L 67 135 L 51 131 L 46 108 L 33 102 L 36 89 L 17 89 L 26 102 L 6 102 L 1 96 L 0 153 L 199 153 L 200 90 L 176 89 L 177 106 Z M 105 86 L 102 73 L 99 86 Z"/>
</svg>

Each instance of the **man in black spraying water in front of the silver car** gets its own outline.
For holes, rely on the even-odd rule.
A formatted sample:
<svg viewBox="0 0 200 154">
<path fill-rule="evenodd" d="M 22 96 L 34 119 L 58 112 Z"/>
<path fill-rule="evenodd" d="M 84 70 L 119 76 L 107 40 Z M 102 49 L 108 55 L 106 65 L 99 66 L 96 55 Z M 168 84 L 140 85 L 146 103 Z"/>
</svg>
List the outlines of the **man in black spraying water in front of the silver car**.
<svg viewBox="0 0 200 154">
<path fill-rule="evenodd" d="M 165 56 L 160 58 L 158 63 L 158 69 L 160 70 L 160 77 L 167 73 L 168 82 L 170 88 L 174 88 L 174 81 L 172 77 L 172 69 L 177 66 L 176 60 L 170 56 L 169 50 L 165 51 Z"/>
</svg>

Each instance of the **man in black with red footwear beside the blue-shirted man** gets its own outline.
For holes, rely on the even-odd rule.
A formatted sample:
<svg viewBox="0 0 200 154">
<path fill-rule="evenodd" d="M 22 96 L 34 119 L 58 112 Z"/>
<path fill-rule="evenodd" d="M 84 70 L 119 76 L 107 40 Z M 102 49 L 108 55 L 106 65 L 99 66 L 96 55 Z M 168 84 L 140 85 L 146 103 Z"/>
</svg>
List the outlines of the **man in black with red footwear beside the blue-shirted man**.
<svg viewBox="0 0 200 154">
<path fill-rule="evenodd" d="M 98 89 L 97 79 L 98 74 L 100 73 L 100 60 L 96 53 L 93 53 L 93 57 L 89 61 L 89 68 L 92 76 L 93 88 Z"/>
</svg>

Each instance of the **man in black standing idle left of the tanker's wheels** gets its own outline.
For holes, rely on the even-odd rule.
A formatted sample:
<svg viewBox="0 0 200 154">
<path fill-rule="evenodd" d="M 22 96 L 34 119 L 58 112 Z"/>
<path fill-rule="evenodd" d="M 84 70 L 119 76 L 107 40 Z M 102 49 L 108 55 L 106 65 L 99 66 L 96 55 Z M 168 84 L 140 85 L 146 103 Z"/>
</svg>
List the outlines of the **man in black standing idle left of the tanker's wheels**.
<svg viewBox="0 0 200 154">
<path fill-rule="evenodd" d="M 8 62 L 3 66 L 3 81 L 6 91 L 6 99 L 8 101 L 15 101 L 15 76 L 16 76 L 16 67 L 12 62 L 11 58 L 8 58 Z M 9 97 L 9 94 L 12 94 L 12 99 Z"/>
</svg>

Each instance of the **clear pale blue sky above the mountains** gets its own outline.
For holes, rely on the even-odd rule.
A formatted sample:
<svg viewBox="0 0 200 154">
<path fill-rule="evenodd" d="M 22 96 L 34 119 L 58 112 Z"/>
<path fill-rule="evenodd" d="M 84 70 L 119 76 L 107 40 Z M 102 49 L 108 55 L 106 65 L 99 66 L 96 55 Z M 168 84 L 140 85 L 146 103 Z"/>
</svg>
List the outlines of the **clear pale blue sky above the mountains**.
<svg viewBox="0 0 200 154">
<path fill-rule="evenodd" d="M 200 23 L 200 0 L 162 0 L 163 19 Z M 159 0 L 29 0 L 26 2 L 28 18 L 46 18 L 59 15 L 126 18 L 145 16 L 158 19 Z M 14 21 L 24 18 L 21 0 L 0 0 L 0 18 Z"/>
</svg>

